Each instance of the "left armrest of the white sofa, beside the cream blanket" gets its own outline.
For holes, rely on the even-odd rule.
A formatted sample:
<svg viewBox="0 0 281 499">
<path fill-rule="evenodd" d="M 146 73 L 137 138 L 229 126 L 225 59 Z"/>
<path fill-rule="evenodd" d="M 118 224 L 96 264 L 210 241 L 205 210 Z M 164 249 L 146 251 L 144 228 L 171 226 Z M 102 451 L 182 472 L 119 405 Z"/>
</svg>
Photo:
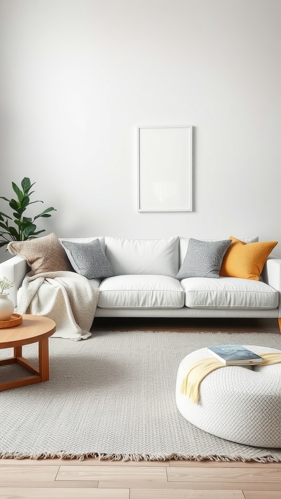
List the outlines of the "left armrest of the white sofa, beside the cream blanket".
<svg viewBox="0 0 281 499">
<path fill-rule="evenodd" d="M 21 286 L 23 278 L 29 270 L 30 268 L 27 265 L 26 260 L 18 255 L 0 263 L 0 277 L 6 277 L 13 282 L 13 286 L 7 289 L 7 293 L 15 307 L 17 305 L 16 295 L 18 288 Z"/>
</svg>

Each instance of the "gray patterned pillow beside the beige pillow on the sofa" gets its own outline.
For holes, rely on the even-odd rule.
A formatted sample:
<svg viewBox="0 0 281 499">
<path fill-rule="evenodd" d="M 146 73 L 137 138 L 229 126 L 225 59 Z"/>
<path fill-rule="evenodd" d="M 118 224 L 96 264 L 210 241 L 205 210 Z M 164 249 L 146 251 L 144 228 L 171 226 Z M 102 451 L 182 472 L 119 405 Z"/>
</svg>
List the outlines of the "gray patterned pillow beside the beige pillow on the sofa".
<svg viewBox="0 0 281 499">
<path fill-rule="evenodd" d="M 68 259 L 78 274 L 87 279 L 112 277 L 114 270 L 111 267 L 98 239 L 90 243 L 74 243 L 61 241 Z"/>
</svg>

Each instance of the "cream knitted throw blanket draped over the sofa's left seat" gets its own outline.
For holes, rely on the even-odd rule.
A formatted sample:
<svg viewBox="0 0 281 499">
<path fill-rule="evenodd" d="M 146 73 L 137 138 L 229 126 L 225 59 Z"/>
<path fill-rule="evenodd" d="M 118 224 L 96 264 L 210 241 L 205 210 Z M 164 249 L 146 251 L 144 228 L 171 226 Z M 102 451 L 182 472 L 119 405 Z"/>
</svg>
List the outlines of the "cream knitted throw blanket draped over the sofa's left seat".
<svg viewBox="0 0 281 499">
<path fill-rule="evenodd" d="M 56 338 L 74 341 L 91 336 L 98 289 L 75 272 L 29 272 L 23 279 L 17 312 L 54 320 Z"/>
</svg>

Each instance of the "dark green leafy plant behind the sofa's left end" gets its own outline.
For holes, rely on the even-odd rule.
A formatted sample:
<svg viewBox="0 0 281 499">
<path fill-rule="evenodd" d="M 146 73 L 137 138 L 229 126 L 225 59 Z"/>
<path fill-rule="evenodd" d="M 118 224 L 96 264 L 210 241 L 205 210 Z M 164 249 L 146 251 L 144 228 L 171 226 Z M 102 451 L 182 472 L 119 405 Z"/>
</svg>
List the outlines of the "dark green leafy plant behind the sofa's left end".
<svg viewBox="0 0 281 499">
<path fill-rule="evenodd" d="M 12 189 L 16 194 L 17 201 L 15 199 L 7 199 L 0 196 L 0 199 L 7 201 L 9 207 L 13 210 L 14 216 L 13 227 L 10 226 L 10 222 L 8 222 L 8 220 L 12 220 L 12 218 L 5 213 L 0 212 L 0 231 L 1 229 L 4 229 L 4 231 L 0 232 L 0 248 L 7 245 L 10 241 L 26 241 L 27 239 L 36 239 L 38 234 L 45 232 L 44 229 L 36 231 L 34 221 L 39 217 L 51 217 L 49 212 L 56 211 L 54 208 L 47 208 L 42 213 L 39 213 L 39 215 L 36 215 L 33 219 L 23 217 L 23 213 L 29 205 L 32 205 L 33 203 L 43 203 L 43 201 L 30 202 L 29 198 L 34 191 L 29 191 L 34 184 L 35 182 L 33 182 L 33 184 L 30 183 L 30 179 L 28 179 L 28 177 L 24 177 L 24 179 L 22 179 L 20 184 L 21 189 L 14 182 L 12 182 Z"/>
</svg>

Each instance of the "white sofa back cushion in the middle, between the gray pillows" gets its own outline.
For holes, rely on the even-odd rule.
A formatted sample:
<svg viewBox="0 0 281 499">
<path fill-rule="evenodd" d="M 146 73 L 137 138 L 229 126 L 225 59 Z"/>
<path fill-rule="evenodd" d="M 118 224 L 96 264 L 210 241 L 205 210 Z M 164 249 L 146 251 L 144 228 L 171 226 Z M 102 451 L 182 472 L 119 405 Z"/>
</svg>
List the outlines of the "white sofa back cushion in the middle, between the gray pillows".
<svg viewBox="0 0 281 499">
<path fill-rule="evenodd" d="M 105 237 L 105 254 L 115 275 L 159 274 L 174 277 L 178 271 L 178 237 L 119 239 Z"/>
</svg>

